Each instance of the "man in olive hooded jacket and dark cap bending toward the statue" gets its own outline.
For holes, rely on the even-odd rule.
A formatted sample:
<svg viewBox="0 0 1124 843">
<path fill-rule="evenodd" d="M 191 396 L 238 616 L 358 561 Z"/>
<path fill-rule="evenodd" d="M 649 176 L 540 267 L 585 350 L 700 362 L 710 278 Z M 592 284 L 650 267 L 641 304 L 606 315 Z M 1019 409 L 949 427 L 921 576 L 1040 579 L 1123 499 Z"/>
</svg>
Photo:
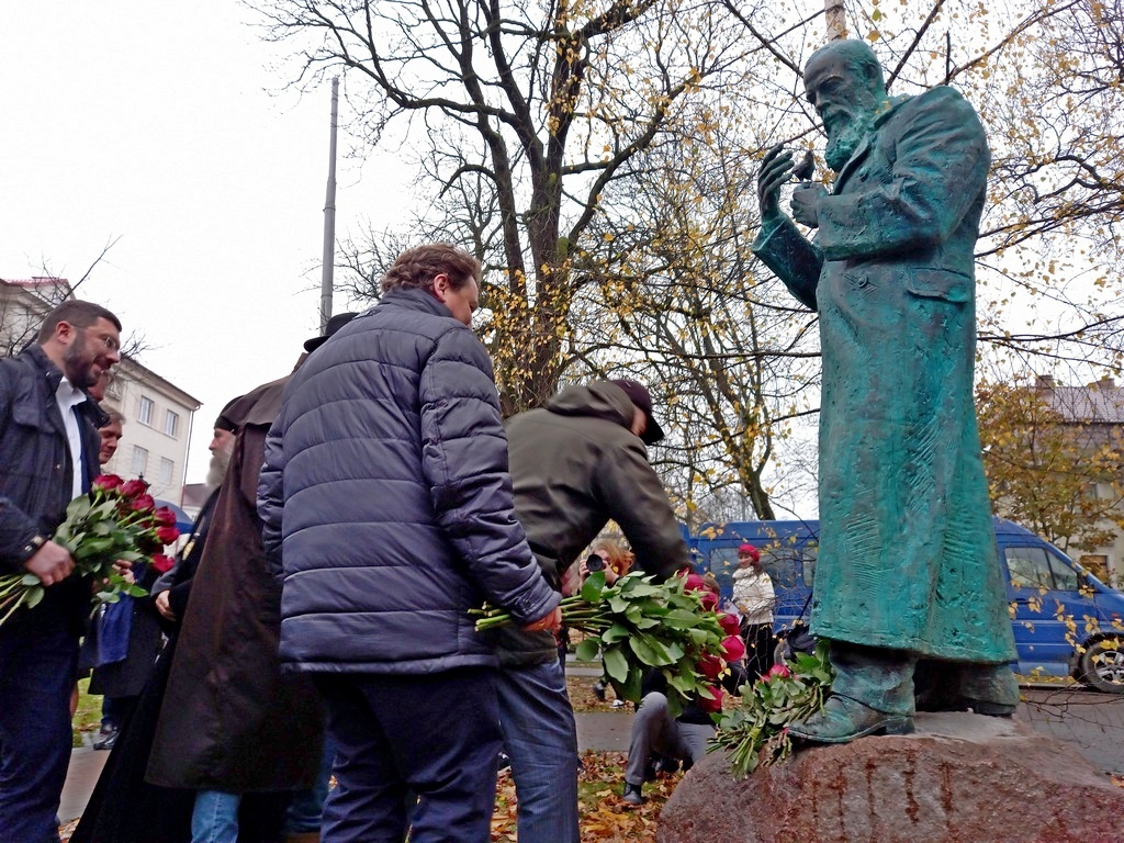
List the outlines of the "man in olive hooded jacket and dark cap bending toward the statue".
<svg viewBox="0 0 1124 843">
<path fill-rule="evenodd" d="M 663 438 L 633 380 L 570 387 L 508 422 L 515 510 L 555 587 L 609 519 L 649 573 L 690 564 L 668 495 L 647 462 Z M 578 843 L 578 736 L 549 635 L 501 632 L 500 718 L 519 803 L 520 843 Z"/>
</svg>

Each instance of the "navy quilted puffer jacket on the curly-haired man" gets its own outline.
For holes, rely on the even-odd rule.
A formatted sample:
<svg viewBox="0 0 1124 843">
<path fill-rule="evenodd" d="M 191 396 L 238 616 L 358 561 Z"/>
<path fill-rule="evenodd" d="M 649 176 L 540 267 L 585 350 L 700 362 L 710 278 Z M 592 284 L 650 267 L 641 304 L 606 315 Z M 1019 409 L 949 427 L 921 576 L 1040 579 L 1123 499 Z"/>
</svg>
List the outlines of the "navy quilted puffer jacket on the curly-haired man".
<svg viewBox="0 0 1124 843">
<path fill-rule="evenodd" d="M 387 292 L 298 370 L 259 497 L 301 670 L 495 665 L 469 609 L 526 623 L 560 600 L 515 519 L 488 353 L 425 290 Z"/>
</svg>

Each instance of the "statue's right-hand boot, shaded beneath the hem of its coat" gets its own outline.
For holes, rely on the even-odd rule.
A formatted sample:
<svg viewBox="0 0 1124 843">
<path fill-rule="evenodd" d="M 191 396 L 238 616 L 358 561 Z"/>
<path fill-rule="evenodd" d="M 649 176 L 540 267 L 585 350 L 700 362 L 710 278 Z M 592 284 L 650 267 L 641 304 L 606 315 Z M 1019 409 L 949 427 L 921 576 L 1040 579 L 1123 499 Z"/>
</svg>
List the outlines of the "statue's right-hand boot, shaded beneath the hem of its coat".
<svg viewBox="0 0 1124 843">
<path fill-rule="evenodd" d="M 968 711 L 1010 717 L 1018 682 L 1010 665 L 923 661 L 917 665 L 917 710 Z"/>
</svg>

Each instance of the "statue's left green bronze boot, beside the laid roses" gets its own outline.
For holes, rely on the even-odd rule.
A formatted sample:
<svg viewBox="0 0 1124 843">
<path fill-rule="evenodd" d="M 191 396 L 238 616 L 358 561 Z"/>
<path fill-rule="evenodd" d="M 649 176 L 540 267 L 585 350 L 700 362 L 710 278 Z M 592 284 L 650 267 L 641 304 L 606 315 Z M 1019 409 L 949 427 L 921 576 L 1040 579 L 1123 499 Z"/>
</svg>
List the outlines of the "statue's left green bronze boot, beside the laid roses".
<svg viewBox="0 0 1124 843">
<path fill-rule="evenodd" d="M 914 731 L 913 671 L 917 661 L 904 650 L 831 643 L 835 671 L 824 709 L 788 727 L 812 743 L 849 743 L 867 735 L 906 735 Z"/>
</svg>

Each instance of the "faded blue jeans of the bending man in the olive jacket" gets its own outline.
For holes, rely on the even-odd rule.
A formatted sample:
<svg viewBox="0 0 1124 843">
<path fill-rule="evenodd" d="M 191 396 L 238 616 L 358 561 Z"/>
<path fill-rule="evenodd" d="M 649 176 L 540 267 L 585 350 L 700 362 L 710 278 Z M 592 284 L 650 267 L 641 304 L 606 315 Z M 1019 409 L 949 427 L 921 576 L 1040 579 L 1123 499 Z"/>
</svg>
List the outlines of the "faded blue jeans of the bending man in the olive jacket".
<svg viewBox="0 0 1124 843">
<path fill-rule="evenodd" d="M 498 690 L 519 843 L 579 843 L 578 728 L 562 667 L 505 668 Z"/>
</svg>

